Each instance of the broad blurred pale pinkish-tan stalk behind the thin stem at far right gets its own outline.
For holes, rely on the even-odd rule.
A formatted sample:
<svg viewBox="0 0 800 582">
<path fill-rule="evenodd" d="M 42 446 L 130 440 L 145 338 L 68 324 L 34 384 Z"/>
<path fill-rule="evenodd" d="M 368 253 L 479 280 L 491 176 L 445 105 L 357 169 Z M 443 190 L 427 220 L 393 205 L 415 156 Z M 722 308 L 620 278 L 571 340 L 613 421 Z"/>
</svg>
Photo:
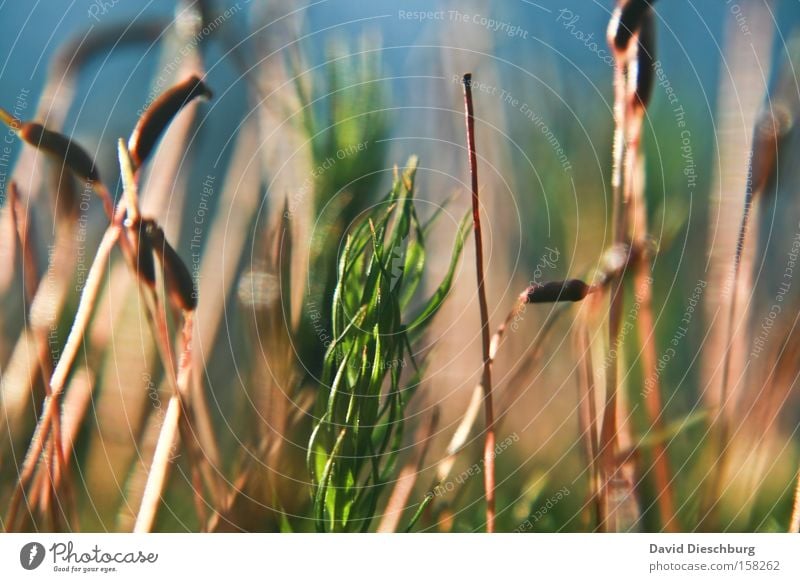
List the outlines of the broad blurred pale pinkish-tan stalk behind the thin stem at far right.
<svg viewBox="0 0 800 582">
<path fill-rule="evenodd" d="M 717 116 L 718 132 L 726 136 L 720 143 L 720 167 L 716 171 L 712 192 L 719 192 L 718 200 L 711 212 L 716 217 L 709 222 L 708 237 L 713 241 L 710 255 L 708 288 L 718 293 L 708 294 L 706 318 L 710 322 L 708 340 L 703 355 L 704 397 L 709 415 L 709 467 L 702 471 L 700 484 L 700 511 L 697 527 L 707 530 L 720 529 L 718 503 L 727 484 L 727 448 L 721 440 L 728 431 L 723 425 L 732 422 L 731 415 L 736 401 L 742 394 L 743 380 L 750 373 L 747 354 L 751 349 L 752 336 L 746 332 L 750 320 L 749 296 L 754 289 L 753 269 L 756 261 L 755 245 L 742 246 L 742 193 L 753 190 L 754 166 L 752 151 L 754 134 L 747 128 L 759 124 L 759 112 L 767 90 L 765 71 L 772 68 L 775 26 L 770 11 L 753 5 L 749 15 L 751 26 L 758 27 L 761 34 L 743 38 L 735 23 L 726 27 L 725 61 L 737 63 L 720 76 Z M 791 92 L 796 93 L 796 80 L 792 72 Z M 749 135 L 748 135 L 749 133 Z M 774 146 L 773 146 L 774 149 Z M 762 152 L 766 153 L 766 152 Z M 752 210 L 757 213 L 758 205 Z M 747 211 L 749 214 L 749 211 Z M 757 240 L 758 221 L 749 217 L 746 226 L 747 239 Z M 721 233 L 736 233 L 720 236 Z M 735 265 L 738 263 L 738 267 Z M 738 274 L 734 271 L 738 270 Z M 729 315 L 733 313 L 733 319 Z M 723 379 L 723 376 L 727 376 Z M 727 386 L 724 386 L 727 385 Z M 728 418 L 725 418 L 728 417 Z M 727 437 L 724 437 L 728 440 Z M 722 467 L 720 466 L 720 455 Z"/>
</svg>

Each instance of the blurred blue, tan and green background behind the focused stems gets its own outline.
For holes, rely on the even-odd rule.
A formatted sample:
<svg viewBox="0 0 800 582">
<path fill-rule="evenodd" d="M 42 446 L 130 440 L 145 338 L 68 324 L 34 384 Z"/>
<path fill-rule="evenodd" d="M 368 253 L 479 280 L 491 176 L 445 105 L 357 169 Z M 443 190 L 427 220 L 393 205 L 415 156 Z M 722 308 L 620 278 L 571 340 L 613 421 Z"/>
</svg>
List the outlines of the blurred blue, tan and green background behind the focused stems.
<svg viewBox="0 0 800 582">
<path fill-rule="evenodd" d="M 332 292 L 325 268 L 335 265 L 342 233 L 388 190 L 393 167 L 417 155 L 418 210 L 430 217 L 443 209 L 428 238 L 423 281 L 427 293 L 435 289 L 470 203 L 463 73 L 474 79 L 492 328 L 532 282 L 591 280 L 602 269 L 612 242 L 613 57 L 605 40 L 612 10 L 611 0 L 0 4 L 0 106 L 81 143 L 116 186 L 112 191 L 120 191 L 116 141 L 130 134 L 155 95 L 195 71 L 214 91 L 166 134 L 142 178 L 142 205 L 164 226 L 199 287 L 195 388 L 205 394 L 216 434 L 213 462 L 241 492 L 216 529 L 313 529 L 303 488 L 303 423 L 322 354 L 308 338 L 319 335 L 314 313 L 324 315 Z M 800 111 L 800 4 L 673 0 L 657 3 L 656 14 L 656 86 L 643 144 L 658 251 L 655 341 L 668 426 L 661 438 L 678 513 L 691 529 L 709 461 L 702 415 L 715 405 L 722 381 L 724 307 L 753 127 L 773 103 L 792 121 Z M 738 299 L 745 323 L 733 364 L 739 444 L 723 505 L 731 530 L 782 531 L 791 513 L 800 453 L 798 283 L 791 271 L 800 234 L 792 163 L 798 139 L 791 132 L 782 145 L 743 263 L 749 279 Z M 28 146 L 17 139 L 2 146 L 5 511 L 40 407 L 42 353 L 58 358 L 105 219 L 96 199 L 70 202 L 63 185 L 54 189 L 42 159 L 25 156 Z M 36 242 L 27 271 L 9 252 L 12 176 Z M 274 225 L 284 212 L 292 224 L 291 304 L 278 300 L 270 275 Z M 70 215 L 77 221 L 65 226 Z M 414 458 L 434 408 L 439 419 L 422 436 L 429 449 L 406 517 L 435 481 L 480 378 L 473 253 L 470 242 L 444 307 L 415 346 L 428 367 L 409 404 L 401 464 Z M 48 268 L 54 257 L 61 271 Z M 80 528 L 88 531 L 131 528 L 168 394 L 135 288 L 118 262 L 109 265 L 69 388 L 80 419 L 71 436 L 75 496 Z M 31 281 L 41 287 L 51 276 L 51 294 L 39 302 L 26 297 L 25 272 L 29 291 Z M 529 306 L 495 363 L 498 441 L 513 441 L 497 457 L 500 531 L 526 520 L 531 531 L 587 529 L 579 354 L 571 335 L 586 308 L 570 309 L 542 340 L 557 310 Z M 47 337 L 44 350 L 37 329 Z M 636 342 L 623 345 L 626 423 L 636 441 L 648 437 L 645 380 Z M 282 443 L 280 452 L 270 448 L 274 442 Z M 480 459 L 481 442 L 474 431 L 451 479 Z M 159 530 L 200 529 L 185 462 L 176 459 Z M 418 529 L 480 530 L 481 481 L 470 476 L 436 495 Z M 636 527 L 657 531 L 652 486 L 647 478 L 638 486 Z M 28 519 L 27 528 L 54 527 L 33 509 Z"/>
</svg>

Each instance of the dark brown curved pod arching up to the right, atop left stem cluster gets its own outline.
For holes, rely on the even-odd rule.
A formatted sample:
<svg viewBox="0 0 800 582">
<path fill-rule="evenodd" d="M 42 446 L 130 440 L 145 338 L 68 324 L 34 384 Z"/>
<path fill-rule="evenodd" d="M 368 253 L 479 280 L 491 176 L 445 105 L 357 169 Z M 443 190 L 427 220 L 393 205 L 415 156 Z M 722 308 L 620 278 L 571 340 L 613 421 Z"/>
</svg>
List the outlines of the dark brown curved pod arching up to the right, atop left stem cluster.
<svg viewBox="0 0 800 582">
<path fill-rule="evenodd" d="M 136 127 L 133 128 L 128 140 L 128 150 L 136 168 L 141 167 L 153 152 L 167 126 L 187 103 L 197 97 L 211 99 L 211 96 L 211 90 L 202 79 L 192 75 L 153 101 L 136 122 Z"/>
</svg>

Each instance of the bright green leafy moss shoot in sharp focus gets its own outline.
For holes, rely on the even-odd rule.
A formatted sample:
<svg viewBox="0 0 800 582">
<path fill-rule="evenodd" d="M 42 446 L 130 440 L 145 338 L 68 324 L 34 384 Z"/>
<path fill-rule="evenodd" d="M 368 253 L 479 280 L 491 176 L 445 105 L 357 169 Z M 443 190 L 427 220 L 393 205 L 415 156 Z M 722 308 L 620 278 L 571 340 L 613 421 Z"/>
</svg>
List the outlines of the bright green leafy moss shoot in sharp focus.
<svg viewBox="0 0 800 582">
<path fill-rule="evenodd" d="M 464 245 L 466 221 L 436 292 L 409 313 L 425 266 L 425 226 L 412 198 L 415 172 L 412 158 L 341 253 L 333 341 L 321 378 L 329 388 L 318 400 L 319 420 L 308 445 L 317 531 L 369 528 L 396 473 L 406 407 L 424 373 L 412 340 L 447 297 Z"/>
</svg>

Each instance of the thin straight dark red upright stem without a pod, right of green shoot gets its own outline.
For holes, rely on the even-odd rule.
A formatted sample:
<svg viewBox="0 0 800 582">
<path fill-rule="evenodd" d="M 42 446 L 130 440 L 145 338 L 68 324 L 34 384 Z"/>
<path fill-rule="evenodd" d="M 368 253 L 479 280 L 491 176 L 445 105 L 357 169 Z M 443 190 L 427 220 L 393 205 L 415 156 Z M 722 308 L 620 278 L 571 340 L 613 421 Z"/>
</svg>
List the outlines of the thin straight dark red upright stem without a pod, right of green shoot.
<svg viewBox="0 0 800 582">
<path fill-rule="evenodd" d="M 472 107 L 472 75 L 464 75 L 464 105 L 466 107 L 467 148 L 469 151 L 469 172 L 472 179 L 472 222 L 475 229 L 475 269 L 478 277 L 478 304 L 481 312 L 481 346 L 483 348 L 483 375 L 481 384 L 484 392 L 484 411 L 486 415 L 486 440 L 483 448 L 484 489 L 486 496 L 486 531 L 494 532 L 494 407 L 492 405 L 492 365 L 490 353 L 489 307 L 486 303 L 485 279 L 483 273 L 483 236 L 481 231 L 480 199 L 478 198 L 478 154 L 475 149 L 475 116 Z"/>
</svg>

